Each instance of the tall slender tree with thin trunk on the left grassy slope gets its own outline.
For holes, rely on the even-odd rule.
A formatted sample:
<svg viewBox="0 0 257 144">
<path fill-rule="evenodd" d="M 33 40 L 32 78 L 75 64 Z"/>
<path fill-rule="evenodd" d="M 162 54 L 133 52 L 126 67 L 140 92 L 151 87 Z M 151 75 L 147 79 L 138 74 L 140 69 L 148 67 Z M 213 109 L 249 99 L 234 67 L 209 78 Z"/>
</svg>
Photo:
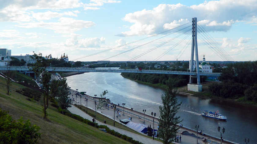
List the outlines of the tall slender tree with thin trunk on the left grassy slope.
<svg viewBox="0 0 257 144">
<path fill-rule="evenodd" d="M 50 80 L 51 80 L 51 73 L 49 73 L 46 68 L 48 67 L 47 59 L 45 59 L 41 53 L 38 55 L 34 53 L 31 57 L 32 59 L 36 60 L 34 67 L 32 70 L 35 72 L 37 76 L 37 80 L 41 84 L 41 89 L 43 90 L 43 111 L 44 111 L 44 119 L 47 118 L 47 108 L 48 102 L 50 98 Z"/>
</svg>

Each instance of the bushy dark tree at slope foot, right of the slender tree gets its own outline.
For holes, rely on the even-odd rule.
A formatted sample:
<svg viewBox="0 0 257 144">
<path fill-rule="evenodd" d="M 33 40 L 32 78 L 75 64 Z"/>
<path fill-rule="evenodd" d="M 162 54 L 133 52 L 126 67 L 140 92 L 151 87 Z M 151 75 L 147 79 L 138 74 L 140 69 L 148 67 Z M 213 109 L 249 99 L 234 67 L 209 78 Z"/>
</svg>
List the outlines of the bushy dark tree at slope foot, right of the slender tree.
<svg viewBox="0 0 257 144">
<path fill-rule="evenodd" d="M 61 107 L 61 109 L 66 110 L 71 107 L 71 101 L 69 100 L 69 85 L 66 82 L 66 78 L 62 78 L 60 81 L 53 80 L 51 83 L 51 95 L 53 95 Z"/>
</svg>

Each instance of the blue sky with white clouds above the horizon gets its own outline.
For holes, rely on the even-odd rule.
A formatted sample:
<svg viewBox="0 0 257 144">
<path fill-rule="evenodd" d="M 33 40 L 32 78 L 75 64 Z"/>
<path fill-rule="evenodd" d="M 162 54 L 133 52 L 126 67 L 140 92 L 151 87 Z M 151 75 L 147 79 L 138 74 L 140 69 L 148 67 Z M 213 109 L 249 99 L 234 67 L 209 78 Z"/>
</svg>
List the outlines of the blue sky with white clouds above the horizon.
<svg viewBox="0 0 257 144">
<path fill-rule="evenodd" d="M 54 58 L 65 53 L 72 61 L 190 60 L 192 18 L 197 17 L 199 60 L 203 55 L 206 61 L 257 57 L 257 0 L 0 3 L 0 48 L 12 50 L 13 56 L 34 51 Z"/>
</svg>

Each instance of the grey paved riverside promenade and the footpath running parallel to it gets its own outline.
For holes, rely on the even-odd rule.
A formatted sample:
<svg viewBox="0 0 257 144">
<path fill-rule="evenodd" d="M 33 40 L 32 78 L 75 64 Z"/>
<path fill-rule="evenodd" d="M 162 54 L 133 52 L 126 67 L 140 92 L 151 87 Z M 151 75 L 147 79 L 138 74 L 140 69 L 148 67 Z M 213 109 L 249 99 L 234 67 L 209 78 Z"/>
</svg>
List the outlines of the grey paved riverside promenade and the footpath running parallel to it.
<svg viewBox="0 0 257 144">
<path fill-rule="evenodd" d="M 69 95 L 70 98 L 72 98 L 72 94 Z M 73 98 L 75 101 L 73 101 L 73 104 L 77 104 L 77 105 L 80 105 L 80 97 L 78 96 L 76 98 L 76 95 L 73 93 Z M 93 101 L 95 98 L 94 97 L 88 97 L 88 103 L 85 101 L 85 98 L 81 98 L 81 105 L 83 106 L 88 106 L 88 108 L 92 109 L 92 110 L 95 110 L 95 102 Z M 98 100 L 96 98 L 96 100 Z M 104 115 L 106 115 L 107 117 L 109 117 L 110 119 L 113 119 L 114 117 L 114 109 L 112 109 L 110 107 L 111 105 L 109 104 L 109 109 L 106 107 L 106 108 L 103 108 L 103 110 L 98 110 L 98 113 L 102 113 Z M 125 107 L 125 111 L 126 112 L 129 112 L 129 113 L 124 113 L 124 116 L 123 116 L 123 106 L 117 106 L 117 108 L 120 109 L 120 113 L 121 113 L 121 117 L 118 117 L 118 119 L 115 117 L 115 121 L 119 122 L 119 119 L 124 119 L 124 118 L 127 118 L 128 117 L 131 117 L 132 118 L 132 121 L 133 122 L 136 122 L 136 123 L 140 123 L 140 124 L 143 124 L 143 118 L 139 118 L 139 117 L 143 117 L 143 114 L 142 113 L 138 113 L 134 110 L 130 110 L 129 108 L 126 108 Z M 88 114 L 84 113 L 83 111 L 81 111 L 80 109 L 76 108 L 75 106 L 72 106 L 68 109 L 71 113 L 74 113 L 74 114 L 77 114 L 77 115 L 80 115 L 81 117 L 83 118 L 86 118 L 88 120 L 91 120 L 92 121 L 92 117 L 89 116 Z M 116 113 L 115 113 L 115 116 L 116 116 Z M 152 127 L 152 119 L 153 117 L 152 116 L 149 116 L 149 115 L 145 115 L 145 118 L 147 120 L 145 120 L 145 127 L 151 125 Z M 156 120 L 155 120 L 156 121 Z M 161 142 L 158 142 L 158 141 L 154 141 L 153 139 L 149 139 L 149 138 L 146 138 L 146 137 L 143 137 L 141 135 L 137 135 L 137 134 L 134 134 L 132 132 L 128 132 L 128 131 L 125 131 L 125 130 L 122 130 L 122 129 L 119 129 L 119 128 L 116 128 L 116 127 L 113 127 L 113 126 L 110 126 L 110 125 L 107 125 L 107 124 L 104 124 L 102 122 L 99 122 L 97 121 L 97 123 L 99 123 L 100 125 L 106 125 L 108 126 L 110 129 L 113 129 L 114 131 L 117 131 L 121 134 L 124 134 L 124 135 L 127 135 L 129 137 L 132 137 L 133 139 L 135 140 L 138 140 L 142 143 L 145 143 L 145 144 L 149 144 L 149 143 L 158 143 L 160 144 Z M 155 128 L 157 128 L 156 124 L 155 124 Z M 192 136 L 189 136 L 189 135 L 182 135 L 181 132 L 183 131 L 188 131 L 184 128 L 180 128 L 178 130 L 178 133 L 177 135 L 181 135 L 181 144 L 195 144 L 197 139 L 196 137 L 192 137 Z M 192 133 L 191 131 L 189 131 L 189 133 Z M 143 133 L 142 133 L 143 134 Z M 198 135 L 199 136 L 199 135 Z M 200 136 L 199 136 L 200 137 Z M 201 138 L 203 138 L 204 136 L 201 135 Z M 207 137 L 204 137 L 204 138 L 207 138 Z M 176 142 L 173 142 L 173 143 L 176 143 Z M 202 142 L 202 139 L 198 139 L 198 143 L 201 144 L 203 143 Z"/>
</svg>

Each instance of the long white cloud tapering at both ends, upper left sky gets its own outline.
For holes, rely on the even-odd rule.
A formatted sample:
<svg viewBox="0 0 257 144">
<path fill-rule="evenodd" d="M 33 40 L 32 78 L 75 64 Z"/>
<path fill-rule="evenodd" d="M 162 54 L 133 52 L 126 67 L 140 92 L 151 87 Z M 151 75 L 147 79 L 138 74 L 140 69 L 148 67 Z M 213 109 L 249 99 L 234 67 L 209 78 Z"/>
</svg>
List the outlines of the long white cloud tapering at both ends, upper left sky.
<svg viewBox="0 0 257 144">
<path fill-rule="evenodd" d="M 34 28 L 34 27 L 42 27 L 46 29 L 54 30 L 56 33 L 73 33 L 75 31 L 79 31 L 83 28 L 93 27 L 95 26 L 95 23 L 91 21 L 84 21 L 84 20 L 75 20 L 73 18 L 66 18 L 61 17 L 59 19 L 59 22 L 31 22 L 31 23 L 21 23 L 20 25 L 17 25 L 17 27 L 23 27 L 23 28 Z"/>
</svg>

